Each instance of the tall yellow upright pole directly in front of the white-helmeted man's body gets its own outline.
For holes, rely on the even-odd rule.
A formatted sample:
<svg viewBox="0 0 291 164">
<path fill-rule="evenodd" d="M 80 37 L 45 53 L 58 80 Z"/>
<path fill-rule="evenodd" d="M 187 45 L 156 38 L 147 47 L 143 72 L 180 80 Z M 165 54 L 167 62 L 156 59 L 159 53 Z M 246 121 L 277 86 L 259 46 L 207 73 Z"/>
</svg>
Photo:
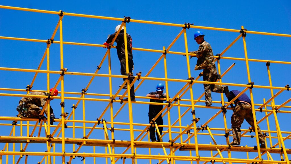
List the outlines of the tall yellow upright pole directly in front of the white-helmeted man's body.
<svg viewBox="0 0 291 164">
<path fill-rule="evenodd" d="M 126 24 L 123 22 L 123 32 L 124 32 L 124 48 L 125 48 L 125 62 L 126 62 L 126 74 L 129 73 L 128 69 L 128 54 L 127 54 L 127 35 L 126 35 Z M 132 104 L 130 100 L 130 83 L 127 79 L 127 95 L 128 95 L 128 110 L 129 110 L 129 128 L 130 128 L 130 148 L 131 153 L 134 154 L 134 133 L 133 133 L 133 117 L 132 117 Z M 132 158 L 132 163 L 134 163 L 134 157 Z"/>
</svg>

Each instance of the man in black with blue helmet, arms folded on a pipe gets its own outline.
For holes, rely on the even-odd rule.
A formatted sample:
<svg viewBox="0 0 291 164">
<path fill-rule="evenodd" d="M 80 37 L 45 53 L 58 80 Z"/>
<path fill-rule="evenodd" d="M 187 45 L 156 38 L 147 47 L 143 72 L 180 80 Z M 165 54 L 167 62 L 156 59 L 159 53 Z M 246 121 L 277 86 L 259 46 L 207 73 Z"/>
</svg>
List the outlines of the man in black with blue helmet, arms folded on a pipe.
<svg viewBox="0 0 291 164">
<path fill-rule="evenodd" d="M 150 102 L 163 103 L 163 101 L 165 100 L 162 100 L 162 99 L 159 100 L 159 99 L 166 98 L 166 93 L 163 94 L 164 89 L 165 89 L 164 85 L 162 83 L 159 83 L 157 85 L 156 92 L 150 92 L 146 95 L 146 97 L 158 98 L 158 99 L 150 99 Z M 148 109 L 148 120 L 151 122 L 152 119 L 155 118 L 162 109 L 163 109 L 163 105 L 150 104 L 149 109 Z M 158 118 L 154 122 L 156 122 L 158 125 L 163 125 L 164 122 L 163 122 L 162 115 L 159 115 Z M 158 140 L 156 139 L 155 129 L 156 129 L 155 126 L 150 126 L 150 140 L 152 142 L 160 142 L 158 132 L 156 132 Z M 160 134 L 162 135 L 163 127 L 159 127 L 158 130 Z"/>
</svg>

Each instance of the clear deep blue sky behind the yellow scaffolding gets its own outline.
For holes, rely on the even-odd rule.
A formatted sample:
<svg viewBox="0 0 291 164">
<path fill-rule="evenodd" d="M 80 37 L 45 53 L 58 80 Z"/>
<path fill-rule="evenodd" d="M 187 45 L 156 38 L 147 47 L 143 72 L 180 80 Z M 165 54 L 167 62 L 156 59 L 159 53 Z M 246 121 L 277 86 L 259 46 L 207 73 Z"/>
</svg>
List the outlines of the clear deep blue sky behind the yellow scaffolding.
<svg viewBox="0 0 291 164">
<path fill-rule="evenodd" d="M 184 24 L 184 22 L 194 23 L 197 26 L 219 27 L 229 29 L 241 29 L 244 28 L 249 31 L 259 32 L 272 32 L 281 34 L 291 34 L 291 2 L 290 1 L 2 1 L 0 5 L 14 6 L 23 8 L 33 8 L 49 11 L 63 10 L 68 13 L 80 13 L 88 15 L 108 16 L 123 18 L 123 16 L 130 16 L 136 20 L 149 20 L 157 22 L 168 22 Z M 45 14 L 45 13 L 33 13 L 26 11 L 15 11 L 8 9 L 0 9 L 0 36 L 10 36 L 19 38 L 30 39 L 49 39 L 52 32 L 58 22 L 58 15 Z M 99 20 L 91 18 L 80 18 L 65 16 L 63 18 L 63 40 L 69 42 L 80 43 L 93 43 L 102 44 L 106 41 L 108 34 L 112 34 L 116 25 L 120 24 L 118 21 Z M 169 27 L 161 25 L 147 25 L 130 22 L 127 24 L 127 33 L 132 36 L 133 47 L 136 48 L 149 48 L 162 50 L 163 46 L 168 46 L 173 39 L 178 35 L 182 28 Z M 187 40 L 189 51 L 198 49 L 197 43 L 193 40 L 194 32 L 198 29 L 187 30 Z M 205 34 L 205 40 L 212 46 L 214 55 L 221 53 L 238 35 L 234 32 L 222 32 L 213 30 L 203 30 Z M 57 32 L 56 41 L 59 41 L 59 32 Z M 262 60 L 276 60 L 290 62 L 290 43 L 291 39 L 287 37 L 279 36 L 266 36 L 257 34 L 247 34 L 246 45 L 248 51 L 248 57 L 250 59 L 262 59 Z M 13 40 L 0 40 L 0 67 L 12 67 L 12 68 L 26 68 L 37 69 L 43 53 L 45 52 L 46 44 L 38 42 L 27 41 L 13 41 Z M 60 46 L 59 44 L 52 44 L 50 48 L 50 68 L 51 70 L 60 70 Z M 71 46 L 64 45 L 64 67 L 68 68 L 68 71 L 73 72 L 88 72 L 94 73 L 97 65 L 100 63 L 106 49 L 98 47 L 87 46 Z M 171 51 L 185 52 L 183 35 L 171 48 Z M 120 64 L 116 55 L 116 49 L 111 50 L 111 64 L 112 74 L 120 74 Z M 134 74 L 138 71 L 142 72 L 144 76 L 156 60 L 160 57 L 160 53 L 150 53 L 145 51 L 133 51 L 134 60 Z M 242 39 L 237 41 L 235 45 L 230 48 L 223 56 L 226 57 L 239 57 L 244 58 L 244 49 Z M 226 83 L 248 83 L 246 74 L 246 64 L 244 61 L 233 60 L 221 60 L 221 71 L 224 72 L 232 63 L 236 63 L 235 67 L 229 71 L 229 73 L 222 79 Z M 107 74 L 108 60 L 106 59 L 102 68 L 98 73 Z M 191 64 L 191 76 L 196 77 L 199 71 L 194 71 L 196 64 L 196 58 L 190 60 Z M 251 81 L 255 82 L 255 85 L 268 86 L 269 80 L 267 76 L 267 68 L 264 62 L 249 62 Z M 182 55 L 167 54 L 167 71 L 168 78 L 187 79 L 187 64 L 186 58 Z M 290 64 L 272 64 L 270 66 L 273 86 L 283 87 L 287 83 L 290 84 Z M 42 65 L 41 69 L 46 70 L 46 63 Z M 15 71 L 0 71 L 2 80 L 0 81 L 0 88 L 16 88 L 25 89 L 25 87 L 31 83 L 34 73 L 23 73 Z M 33 89 L 46 90 L 47 80 L 46 74 L 39 74 Z M 52 74 L 50 85 L 53 86 L 58 79 L 59 75 Z M 164 64 L 160 62 L 154 71 L 150 74 L 150 77 L 164 77 Z M 91 77 L 88 76 L 65 76 L 65 91 L 80 92 L 82 88 L 85 88 Z M 200 78 L 199 80 L 202 80 Z M 136 96 L 145 96 L 147 93 L 155 91 L 157 83 L 164 83 L 163 81 L 145 81 L 139 90 L 136 92 Z M 122 83 L 119 78 L 113 79 L 113 93 L 118 90 L 118 86 Z M 139 82 L 136 83 L 136 85 Z M 184 83 L 169 82 L 169 95 L 173 97 L 177 93 Z M 61 90 L 61 86 L 58 86 Z M 243 90 L 242 87 L 230 86 L 230 90 Z M 203 93 L 202 84 L 194 84 L 194 99 L 197 99 Z M 125 91 L 125 90 L 123 90 Z M 25 94 L 24 92 L 8 92 L 0 91 L 1 93 L 18 93 Z M 87 91 L 88 93 L 109 93 L 108 78 L 96 77 Z M 278 90 L 274 90 L 277 93 Z M 249 95 L 249 91 L 246 92 Z M 255 103 L 262 104 L 263 98 L 268 100 L 271 97 L 269 89 L 253 89 Z M 284 91 L 276 97 L 276 105 L 282 104 L 288 100 L 290 91 Z M 76 96 L 79 95 L 65 95 Z M 95 97 L 104 98 L 108 97 Z M 190 98 L 190 94 L 187 93 L 184 96 L 185 99 Z M 212 98 L 214 101 L 221 101 L 220 94 L 213 93 Z M 226 99 L 226 97 L 224 97 Z M 15 110 L 20 97 L 1 97 L 0 103 L 0 115 L 1 116 L 15 116 L 17 111 Z M 204 97 L 202 98 L 204 100 Z M 144 99 L 137 99 L 137 101 L 146 101 Z M 76 100 L 65 100 L 65 111 L 71 112 L 72 104 L 75 104 Z M 61 107 L 59 105 L 60 100 L 55 99 L 51 102 L 56 117 L 61 114 Z M 184 102 L 189 104 L 189 102 Z M 96 120 L 103 109 L 106 107 L 105 102 L 86 102 L 86 120 Z M 204 105 L 204 103 L 198 103 L 198 105 Z M 287 105 L 291 105 L 288 103 Z M 114 112 L 116 112 L 121 105 L 118 103 L 113 104 Z M 148 123 L 148 105 L 133 104 L 133 120 L 134 123 Z M 213 104 L 213 106 L 221 106 L 220 104 Z M 76 119 L 82 119 L 82 104 L 76 109 Z M 268 107 L 270 109 L 270 107 Z M 181 111 L 185 111 L 186 108 L 181 108 Z M 290 108 L 281 108 L 281 110 L 290 111 Z M 203 124 L 211 116 L 217 112 L 217 109 L 205 109 L 196 108 L 196 116 L 200 117 L 198 125 Z M 227 126 L 231 128 L 230 116 L 232 112 L 226 113 Z M 257 112 L 257 119 L 259 120 L 265 113 Z M 285 120 L 289 118 L 288 114 L 278 114 L 279 123 L 282 131 L 290 131 L 289 123 Z M 187 114 L 182 119 L 182 125 L 186 126 L 191 124 L 191 113 Z M 110 114 L 107 112 L 104 115 L 107 121 L 110 121 Z M 177 108 L 171 109 L 171 122 L 173 123 L 178 118 Z M 114 121 L 128 122 L 128 107 L 127 105 L 116 117 Z M 270 119 L 271 130 L 276 130 L 274 117 Z M 10 123 L 9 121 L 0 121 L 0 123 Z M 68 123 L 68 125 L 72 125 Z M 91 124 L 86 124 L 92 126 Z M 168 121 L 165 117 L 164 125 L 168 125 Z M 82 124 L 76 124 L 76 126 L 82 126 Z M 219 115 L 214 121 L 209 124 L 210 128 L 223 128 L 223 117 Z M 246 121 L 242 124 L 242 129 L 247 129 L 248 124 Z M 99 125 L 98 127 L 103 127 Z M 110 127 L 110 126 L 109 126 Z M 260 127 L 263 130 L 267 130 L 266 121 L 260 123 Z M 128 126 L 114 126 L 114 128 L 129 128 Z M 143 127 L 135 127 L 136 129 L 143 129 Z M 19 127 L 17 134 L 19 135 Z M 32 129 L 32 128 L 31 128 Z M 166 130 L 167 128 L 164 128 Z M 11 127 L 1 127 L 0 135 L 9 135 Z M 173 131 L 179 131 L 173 129 Z M 44 132 L 44 130 L 42 130 Z M 77 138 L 82 138 L 83 133 L 81 129 L 77 130 Z M 192 130 L 193 132 L 193 130 Z M 200 131 L 201 132 L 201 131 Z M 223 134 L 224 131 L 213 131 L 214 133 Z M 87 131 L 88 133 L 88 131 Z M 205 133 L 203 131 L 202 133 Z M 26 134 L 26 133 L 24 133 Z M 255 135 L 254 133 L 252 133 Z M 44 136 L 44 134 L 42 134 Z M 72 137 L 72 130 L 66 129 L 66 137 Z M 134 134 L 136 137 L 138 132 Z M 248 133 L 248 135 L 250 135 Z M 175 135 L 174 135 L 175 136 Z M 272 136 L 275 136 L 274 133 Z M 283 136 L 287 136 L 284 134 Z M 184 138 L 186 135 L 184 136 Z M 103 131 L 95 130 L 90 138 L 102 139 Z M 111 137 L 109 137 L 111 138 Z M 218 144 L 226 144 L 223 136 L 215 137 Z M 129 140 L 129 132 L 115 132 L 116 140 Z M 147 139 L 147 137 L 146 137 Z M 168 135 L 164 137 L 165 141 L 168 141 Z M 230 137 L 232 140 L 232 137 Z M 144 140 L 146 141 L 146 140 Z M 206 135 L 198 136 L 198 143 L 209 144 L 212 142 L 211 138 Z M 269 145 L 269 139 L 267 139 Z M 276 143 L 276 139 L 273 139 L 273 143 Z M 194 138 L 191 140 L 194 143 Z M 255 138 L 242 137 L 241 145 L 249 146 L 255 145 Z M 19 151 L 19 144 L 16 144 L 16 151 Z M 290 148 L 291 142 L 285 141 L 287 148 Z M 3 149 L 4 144 L 0 143 L 0 149 Z M 58 152 L 61 152 L 61 145 L 56 147 Z M 12 144 L 10 151 L 12 150 Z M 45 144 L 38 145 L 29 144 L 27 151 L 39 151 L 46 150 Z M 116 153 L 122 153 L 124 148 L 116 148 Z M 66 145 L 66 152 L 72 152 L 72 146 Z M 93 148 L 89 146 L 83 146 L 79 152 L 93 152 Z M 104 147 L 96 148 L 96 152 L 104 153 Z M 167 149 L 167 152 L 170 151 Z M 127 152 L 130 153 L 130 150 Z M 148 149 L 137 149 L 138 154 L 148 154 Z M 161 153 L 162 149 L 152 149 L 152 154 Z M 193 152 L 194 153 L 194 152 Z M 200 156 L 210 156 L 210 152 L 199 151 Z M 176 155 L 187 156 L 189 152 L 182 151 L 176 152 Z M 257 156 L 257 153 L 250 153 L 250 158 Z M 227 156 L 224 152 L 223 156 Z M 233 158 L 246 158 L 246 153 L 232 153 Z M 6 157 L 5 157 L 6 158 Z M 16 156 L 18 159 L 18 156 Z M 40 161 L 42 157 L 29 157 L 29 163 L 36 163 Z M 267 159 L 266 156 L 263 156 Z M 277 154 L 273 155 L 274 160 L 280 160 Z M 16 160 L 17 160 L 16 159 Z M 56 158 L 61 161 L 61 158 Z M 10 161 L 12 158 L 10 157 Z M 24 159 L 22 159 L 22 162 Z M 66 158 L 68 161 L 68 158 Z M 92 158 L 86 158 L 87 163 L 91 163 Z M 100 162 L 103 163 L 104 158 L 100 158 Z M 119 161 L 120 163 L 121 161 Z M 129 163 L 130 160 L 127 160 Z M 157 161 L 152 160 L 153 163 Z M 83 163 L 80 158 L 74 159 L 73 163 Z M 138 160 L 138 163 L 149 163 L 148 160 Z M 176 163 L 184 163 L 177 161 Z"/>
</svg>

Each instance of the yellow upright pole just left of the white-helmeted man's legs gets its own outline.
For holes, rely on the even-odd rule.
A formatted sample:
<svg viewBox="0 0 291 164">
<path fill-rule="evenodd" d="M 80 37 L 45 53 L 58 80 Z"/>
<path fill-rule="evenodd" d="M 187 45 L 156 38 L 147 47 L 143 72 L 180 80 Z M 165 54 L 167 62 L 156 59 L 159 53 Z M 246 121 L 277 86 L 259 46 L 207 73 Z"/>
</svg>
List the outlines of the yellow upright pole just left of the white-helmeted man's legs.
<svg viewBox="0 0 291 164">
<path fill-rule="evenodd" d="M 110 49 L 108 49 L 108 74 L 111 75 L 111 54 Z M 112 96 L 112 79 L 109 77 L 109 97 L 113 98 Z M 110 119 L 111 119 L 111 139 L 114 139 L 114 123 L 113 123 L 113 103 L 110 103 Z M 115 153 L 114 144 L 112 144 L 112 153 Z M 113 158 L 114 159 L 114 158 Z M 112 160 L 112 163 L 115 164 L 115 160 Z"/>
</svg>

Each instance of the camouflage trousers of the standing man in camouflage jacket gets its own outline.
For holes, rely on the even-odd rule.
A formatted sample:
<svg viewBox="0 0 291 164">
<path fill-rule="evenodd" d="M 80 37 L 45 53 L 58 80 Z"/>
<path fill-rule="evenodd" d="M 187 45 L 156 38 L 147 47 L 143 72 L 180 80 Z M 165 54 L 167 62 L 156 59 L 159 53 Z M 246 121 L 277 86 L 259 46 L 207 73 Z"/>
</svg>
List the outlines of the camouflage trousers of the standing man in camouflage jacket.
<svg viewBox="0 0 291 164">
<path fill-rule="evenodd" d="M 216 67 L 203 69 L 203 81 L 211 82 L 217 81 Z M 203 84 L 203 85 L 205 91 L 205 104 L 211 105 L 212 104 L 211 92 L 223 93 L 223 86 L 214 84 Z"/>
</svg>

